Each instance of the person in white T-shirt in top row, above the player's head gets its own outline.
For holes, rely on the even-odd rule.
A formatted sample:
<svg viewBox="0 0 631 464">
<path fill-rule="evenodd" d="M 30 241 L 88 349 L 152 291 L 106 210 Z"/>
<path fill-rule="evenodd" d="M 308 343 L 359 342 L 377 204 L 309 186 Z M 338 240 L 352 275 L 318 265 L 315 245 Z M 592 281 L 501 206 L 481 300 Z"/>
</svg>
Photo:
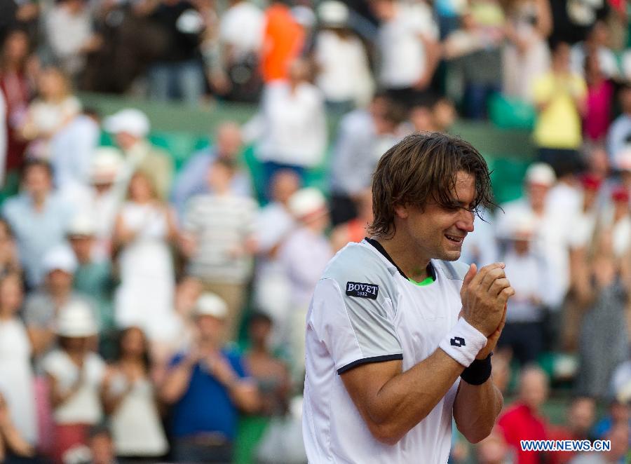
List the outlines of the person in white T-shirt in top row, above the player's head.
<svg viewBox="0 0 631 464">
<path fill-rule="evenodd" d="M 379 50 L 379 84 L 391 97 L 409 104 L 427 90 L 438 64 L 438 27 L 425 1 L 372 2 L 381 25 L 376 46 Z"/>
</svg>

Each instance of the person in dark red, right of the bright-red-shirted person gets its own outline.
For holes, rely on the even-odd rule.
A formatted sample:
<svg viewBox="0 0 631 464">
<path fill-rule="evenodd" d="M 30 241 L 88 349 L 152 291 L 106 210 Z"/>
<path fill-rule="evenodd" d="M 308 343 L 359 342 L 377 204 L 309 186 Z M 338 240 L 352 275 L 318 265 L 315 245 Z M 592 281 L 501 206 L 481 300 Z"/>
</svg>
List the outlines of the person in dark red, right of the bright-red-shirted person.
<svg viewBox="0 0 631 464">
<path fill-rule="evenodd" d="M 596 402 L 590 397 L 576 397 L 567 411 L 567 425 L 550 428 L 549 438 L 553 440 L 588 439 L 596 414 Z M 576 453 L 554 451 L 550 453 L 550 464 L 569 463 Z"/>
</svg>

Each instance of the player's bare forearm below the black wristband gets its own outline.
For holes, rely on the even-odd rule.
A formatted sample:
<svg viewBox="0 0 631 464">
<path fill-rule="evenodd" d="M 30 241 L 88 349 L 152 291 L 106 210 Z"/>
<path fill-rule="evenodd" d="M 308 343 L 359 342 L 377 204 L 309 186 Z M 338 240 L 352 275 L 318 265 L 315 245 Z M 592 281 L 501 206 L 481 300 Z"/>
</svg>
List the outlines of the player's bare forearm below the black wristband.
<svg viewBox="0 0 631 464">
<path fill-rule="evenodd" d="M 469 442 L 480 442 L 491 433 L 503 402 L 502 394 L 491 378 L 482 385 L 461 381 L 454 402 L 454 419 L 458 430 Z"/>
</svg>

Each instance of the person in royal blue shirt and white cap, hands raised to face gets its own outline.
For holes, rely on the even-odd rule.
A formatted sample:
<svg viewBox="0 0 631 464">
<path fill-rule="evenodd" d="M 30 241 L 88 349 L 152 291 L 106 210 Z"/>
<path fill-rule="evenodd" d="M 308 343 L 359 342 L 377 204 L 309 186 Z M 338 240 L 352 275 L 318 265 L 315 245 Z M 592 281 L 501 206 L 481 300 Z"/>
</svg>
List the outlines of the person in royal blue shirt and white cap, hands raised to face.
<svg viewBox="0 0 631 464">
<path fill-rule="evenodd" d="M 175 462 L 230 463 L 238 411 L 259 409 L 259 394 L 242 357 L 222 348 L 227 313 L 219 296 L 200 296 L 194 309 L 198 337 L 187 353 L 172 360 L 161 387 L 162 400 L 172 405 Z"/>
</svg>

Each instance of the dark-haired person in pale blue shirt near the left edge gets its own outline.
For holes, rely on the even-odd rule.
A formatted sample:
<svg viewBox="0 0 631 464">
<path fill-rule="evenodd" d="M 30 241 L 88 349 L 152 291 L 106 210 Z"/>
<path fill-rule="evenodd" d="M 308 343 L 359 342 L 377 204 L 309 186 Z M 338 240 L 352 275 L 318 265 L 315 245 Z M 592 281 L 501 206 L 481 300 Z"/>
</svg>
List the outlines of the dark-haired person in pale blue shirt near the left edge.
<svg viewBox="0 0 631 464">
<path fill-rule="evenodd" d="M 8 221 L 29 287 L 43 279 L 42 257 L 64 243 L 72 207 L 53 193 L 52 171 L 45 161 L 29 161 L 22 175 L 22 193 L 6 200 L 2 216 Z"/>
</svg>

